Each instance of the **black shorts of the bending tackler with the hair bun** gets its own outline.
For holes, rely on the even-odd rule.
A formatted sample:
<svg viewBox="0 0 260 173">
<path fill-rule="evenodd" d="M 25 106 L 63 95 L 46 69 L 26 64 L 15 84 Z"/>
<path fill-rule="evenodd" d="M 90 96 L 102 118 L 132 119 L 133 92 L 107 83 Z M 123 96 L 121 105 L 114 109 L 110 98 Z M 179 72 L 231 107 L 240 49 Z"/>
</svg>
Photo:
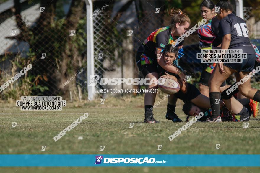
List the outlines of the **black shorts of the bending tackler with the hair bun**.
<svg viewBox="0 0 260 173">
<path fill-rule="evenodd" d="M 144 64 L 144 65 L 141 65 L 141 55 L 143 53 L 142 52 L 137 52 L 137 55 L 136 55 L 136 64 L 137 64 L 137 67 L 139 69 L 139 71 L 142 72 L 142 74 L 144 75 L 144 78 L 146 77 L 146 75 L 148 73 L 153 73 L 153 72 L 156 72 L 156 73 L 159 73 L 158 69 L 157 69 L 157 60 L 152 60 L 152 64 Z"/>
</svg>

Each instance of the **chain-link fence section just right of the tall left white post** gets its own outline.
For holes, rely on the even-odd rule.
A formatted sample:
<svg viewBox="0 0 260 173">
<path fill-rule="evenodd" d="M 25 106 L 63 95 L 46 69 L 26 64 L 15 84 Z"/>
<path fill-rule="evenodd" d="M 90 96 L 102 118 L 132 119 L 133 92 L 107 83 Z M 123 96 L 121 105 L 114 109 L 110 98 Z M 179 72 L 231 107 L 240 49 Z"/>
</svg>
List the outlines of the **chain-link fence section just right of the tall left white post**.
<svg viewBox="0 0 260 173">
<path fill-rule="evenodd" d="M 108 14 L 101 12 L 94 20 L 94 45 L 95 45 L 95 74 L 100 78 L 135 78 L 143 77 L 136 66 L 136 53 L 144 40 L 156 29 L 168 26 L 170 17 L 159 15 L 154 11 L 143 11 L 140 21 L 136 19 L 127 24 L 128 12 L 118 14 L 118 20 L 112 19 Z M 132 11 L 131 13 L 136 13 Z M 134 18 L 134 17 L 132 17 Z M 196 21 L 198 22 L 198 21 Z M 193 23 L 195 23 L 193 21 Z M 127 31 L 133 30 L 131 36 Z M 202 65 L 196 60 L 196 53 L 199 52 L 199 38 L 197 35 L 186 39 L 185 48 L 187 62 L 193 67 L 194 72 L 202 69 Z M 102 57 L 100 57 L 100 55 Z M 141 76 L 140 76 L 141 75 Z M 194 76 L 199 77 L 194 73 Z M 99 83 L 100 81 L 98 81 Z M 141 87 L 134 85 L 106 85 L 105 89 L 133 89 Z M 104 89 L 103 85 L 97 85 L 97 89 Z"/>
</svg>

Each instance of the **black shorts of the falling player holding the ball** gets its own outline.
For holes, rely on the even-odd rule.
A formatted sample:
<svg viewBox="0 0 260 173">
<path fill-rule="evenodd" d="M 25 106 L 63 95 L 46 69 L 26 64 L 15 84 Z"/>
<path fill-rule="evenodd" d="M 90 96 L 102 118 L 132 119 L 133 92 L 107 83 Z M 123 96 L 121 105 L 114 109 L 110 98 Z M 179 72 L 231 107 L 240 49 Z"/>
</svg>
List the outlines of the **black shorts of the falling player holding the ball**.
<svg viewBox="0 0 260 173">
<path fill-rule="evenodd" d="M 174 94 L 174 96 L 178 99 L 181 99 L 183 102 L 190 102 L 200 94 L 201 93 L 199 92 L 198 88 L 195 87 L 195 85 L 187 83 L 187 92 L 183 93 L 179 91 L 178 93 Z"/>
</svg>

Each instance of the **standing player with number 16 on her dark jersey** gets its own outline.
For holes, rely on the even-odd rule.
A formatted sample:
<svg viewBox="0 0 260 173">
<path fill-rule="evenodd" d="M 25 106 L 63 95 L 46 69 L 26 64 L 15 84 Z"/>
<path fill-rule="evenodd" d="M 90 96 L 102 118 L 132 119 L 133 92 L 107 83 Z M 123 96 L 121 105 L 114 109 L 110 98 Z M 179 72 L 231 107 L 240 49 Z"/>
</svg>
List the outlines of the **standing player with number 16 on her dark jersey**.
<svg viewBox="0 0 260 173">
<path fill-rule="evenodd" d="M 255 50 L 251 46 L 248 38 L 246 22 L 232 13 L 233 7 L 230 1 L 220 0 L 216 6 L 220 7 L 220 13 L 217 14 L 220 20 L 218 27 L 218 38 L 222 38 L 221 49 L 242 49 L 247 54 L 242 63 L 218 63 L 209 80 L 209 98 L 212 108 L 212 117 L 208 122 L 221 122 L 220 105 L 216 100 L 220 98 L 226 103 L 232 97 L 231 93 L 220 93 L 220 85 L 233 73 L 236 81 L 240 81 L 238 90 L 242 95 L 257 102 L 260 101 L 260 90 L 251 88 L 249 73 L 254 69 Z M 247 78 L 248 80 L 245 80 Z M 243 83 L 242 83 L 242 82 Z M 227 102 L 228 104 L 228 102 Z M 242 111 L 242 110 L 241 110 Z"/>
</svg>

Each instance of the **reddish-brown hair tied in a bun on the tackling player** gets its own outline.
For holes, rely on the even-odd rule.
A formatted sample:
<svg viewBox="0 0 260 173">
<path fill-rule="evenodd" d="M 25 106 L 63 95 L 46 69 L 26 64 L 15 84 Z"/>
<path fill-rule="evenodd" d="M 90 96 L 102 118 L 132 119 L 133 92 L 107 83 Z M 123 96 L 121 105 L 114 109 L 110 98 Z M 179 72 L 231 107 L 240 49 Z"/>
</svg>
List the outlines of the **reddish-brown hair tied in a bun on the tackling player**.
<svg viewBox="0 0 260 173">
<path fill-rule="evenodd" d="M 168 9 L 168 14 L 171 16 L 171 24 L 170 28 L 175 28 L 176 23 L 180 23 L 180 25 L 184 25 L 186 22 L 191 24 L 191 20 L 187 14 L 183 13 L 180 9 L 171 8 Z"/>
</svg>

